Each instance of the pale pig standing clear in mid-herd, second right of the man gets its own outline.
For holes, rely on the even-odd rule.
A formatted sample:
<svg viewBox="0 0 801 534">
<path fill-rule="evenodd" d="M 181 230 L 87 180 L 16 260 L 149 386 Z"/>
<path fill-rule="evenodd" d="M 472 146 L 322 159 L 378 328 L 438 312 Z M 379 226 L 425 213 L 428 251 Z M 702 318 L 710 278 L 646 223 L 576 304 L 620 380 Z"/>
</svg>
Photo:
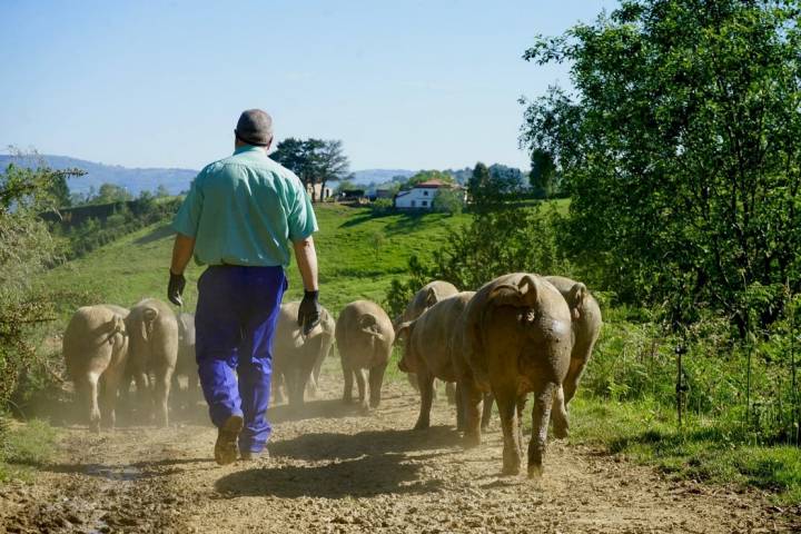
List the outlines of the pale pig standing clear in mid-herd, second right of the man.
<svg viewBox="0 0 801 534">
<path fill-rule="evenodd" d="M 343 399 L 353 399 L 353 377 L 356 375 L 359 402 L 367 409 L 366 373 L 369 369 L 369 406 L 380 404 L 384 382 L 395 330 L 389 316 L 375 303 L 356 300 L 343 308 L 336 322 L 336 342 L 345 374 Z"/>
</svg>

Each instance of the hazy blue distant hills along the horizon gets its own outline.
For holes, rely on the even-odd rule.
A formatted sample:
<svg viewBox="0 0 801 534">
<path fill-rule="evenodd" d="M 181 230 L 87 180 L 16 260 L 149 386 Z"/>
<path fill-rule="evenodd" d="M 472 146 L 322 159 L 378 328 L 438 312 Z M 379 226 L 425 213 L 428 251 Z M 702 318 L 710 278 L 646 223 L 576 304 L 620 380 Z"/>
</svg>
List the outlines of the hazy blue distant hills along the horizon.
<svg viewBox="0 0 801 534">
<path fill-rule="evenodd" d="M 14 156 L 0 154 L 0 168 L 4 169 L 8 164 L 16 162 L 26 167 L 36 167 L 39 159 L 43 159 L 53 169 L 79 168 L 87 171 L 79 178 L 69 180 L 71 192 L 86 194 L 89 188 L 96 190 L 102 184 L 113 184 L 127 188 L 134 196 L 142 190 L 154 191 L 164 185 L 170 195 L 178 195 L 189 189 L 189 184 L 195 179 L 198 171 L 194 169 L 167 169 L 167 168 L 128 168 L 119 165 L 105 165 L 85 159 L 70 158 L 68 156 L 39 155 L 37 158 L 17 158 Z M 409 177 L 416 171 L 407 169 L 367 169 L 354 172 L 357 184 L 367 185 L 370 182 L 382 184 L 389 181 L 394 176 Z"/>
</svg>

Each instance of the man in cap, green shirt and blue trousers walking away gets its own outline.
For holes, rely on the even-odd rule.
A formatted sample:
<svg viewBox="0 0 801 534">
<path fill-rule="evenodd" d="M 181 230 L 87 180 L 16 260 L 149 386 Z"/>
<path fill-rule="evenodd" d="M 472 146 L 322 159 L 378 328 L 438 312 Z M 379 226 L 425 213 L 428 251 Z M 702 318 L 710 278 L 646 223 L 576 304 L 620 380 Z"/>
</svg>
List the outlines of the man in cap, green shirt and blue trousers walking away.
<svg viewBox="0 0 801 534">
<path fill-rule="evenodd" d="M 256 458 L 270 434 L 273 335 L 287 288 L 289 243 L 304 284 L 298 325 L 319 323 L 317 220 L 300 180 L 267 157 L 273 119 L 241 113 L 234 155 L 200 171 L 172 222 L 177 231 L 167 296 L 181 306 L 184 269 L 207 265 L 198 280 L 197 363 L 219 465 Z M 236 375 L 234 372 L 236 370 Z"/>
</svg>

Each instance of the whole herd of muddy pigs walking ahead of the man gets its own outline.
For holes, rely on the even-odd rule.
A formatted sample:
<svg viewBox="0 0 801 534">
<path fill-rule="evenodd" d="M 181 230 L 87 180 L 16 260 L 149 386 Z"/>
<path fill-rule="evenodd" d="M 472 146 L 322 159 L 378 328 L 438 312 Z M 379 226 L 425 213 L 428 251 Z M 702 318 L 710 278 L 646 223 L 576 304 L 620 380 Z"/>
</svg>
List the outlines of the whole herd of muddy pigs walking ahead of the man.
<svg viewBox="0 0 801 534">
<path fill-rule="evenodd" d="M 429 425 L 434 380 L 455 383 L 456 427 L 464 445 L 481 444 L 492 403 L 503 428 L 503 473 L 517 474 L 523 455 L 522 415 L 533 393 L 528 476 L 542 473 L 548 423 L 556 437 L 568 429 L 566 405 L 575 394 L 601 329 L 601 310 L 584 284 L 560 276 L 504 275 L 477 291 L 432 281 L 395 320 L 375 303 L 356 300 L 338 318 L 323 309 L 307 335 L 297 326 L 298 303 L 281 305 L 273 342 L 273 390 L 290 406 L 315 395 L 323 360 L 336 340 L 344 374 L 343 399 L 354 378 L 363 409 L 377 407 L 393 344 L 403 340 L 400 370 L 421 393 L 416 429 Z M 136 383 L 140 406 L 168 424 L 170 387 L 178 375 L 197 389 L 191 314 L 146 299 L 126 309 L 79 308 L 63 336 L 67 372 L 90 426 L 113 427 L 119 395 Z M 483 407 L 483 409 L 482 409 Z M 150 409 L 150 408 L 148 408 Z"/>
</svg>

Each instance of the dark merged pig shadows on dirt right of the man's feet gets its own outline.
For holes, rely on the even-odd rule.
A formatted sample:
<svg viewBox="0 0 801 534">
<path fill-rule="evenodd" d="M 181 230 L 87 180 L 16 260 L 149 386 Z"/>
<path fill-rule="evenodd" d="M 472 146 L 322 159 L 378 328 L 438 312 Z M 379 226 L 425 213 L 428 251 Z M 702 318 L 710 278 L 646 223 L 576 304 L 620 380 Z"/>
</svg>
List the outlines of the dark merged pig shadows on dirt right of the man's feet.
<svg viewBox="0 0 801 534">
<path fill-rule="evenodd" d="M 452 426 L 426 431 L 305 434 L 270 444 L 270 455 L 290 459 L 288 465 L 268 463 L 264 467 L 231 473 L 217 481 L 215 487 L 227 498 L 425 494 L 436 492 L 442 482 L 421 479 L 423 462 L 451 453 L 407 453 L 458 447 L 459 437 Z M 291 461 L 303 461 L 305 465 L 294 465 L 296 462 Z"/>
</svg>

